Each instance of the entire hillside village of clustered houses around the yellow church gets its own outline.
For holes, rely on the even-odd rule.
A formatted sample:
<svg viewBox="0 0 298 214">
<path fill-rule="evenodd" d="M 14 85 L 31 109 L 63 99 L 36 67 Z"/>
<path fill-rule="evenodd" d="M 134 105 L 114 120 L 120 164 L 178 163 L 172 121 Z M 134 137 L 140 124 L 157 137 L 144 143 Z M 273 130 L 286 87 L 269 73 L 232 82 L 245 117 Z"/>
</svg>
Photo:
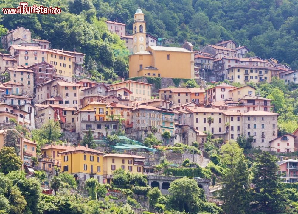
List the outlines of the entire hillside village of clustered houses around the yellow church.
<svg viewBox="0 0 298 214">
<path fill-rule="evenodd" d="M 233 40 L 200 50 L 187 41 L 162 46 L 170 40 L 146 33 L 140 8 L 132 35 L 126 35 L 124 23 L 105 23 L 130 53 L 128 79 L 111 84 L 82 76 L 84 53 L 52 49 L 50 41 L 32 38 L 23 26 L 1 37 L 6 51 L 0 54 L 0 149 L 16 139 L 13 147 L 26 176 L 46 173 L 43 193 L 56 195 L 51 182 L 59 173 L 70 174 L 82 191 L 91 178 L 118 191 L 115 177 L 122 169 L 144 175 L 149 187 L 165 195 L 170 183 L 192 177 L 206 200 L 221 206 L 223 199 L 212 193 L 224 187 L 226 169 L 220 172 L 215 159 L 222 147 L 242 141 L 246 156 L 266 151 L 280 157 L 274 162 L 282 181 L 298 182 L 298 160 L 287 156 L 298 151 L 298 129 L 281 133 L 274 99 L 262 97 L 256 87 L 280 80 L 294 85 L 298 70 L 274 58 L 250 56 Z M 41 140 L 42 132 L 58 137 Z M 161 212 L 139 196 L 138 203 L 143 211 Z"/>
</svg>

